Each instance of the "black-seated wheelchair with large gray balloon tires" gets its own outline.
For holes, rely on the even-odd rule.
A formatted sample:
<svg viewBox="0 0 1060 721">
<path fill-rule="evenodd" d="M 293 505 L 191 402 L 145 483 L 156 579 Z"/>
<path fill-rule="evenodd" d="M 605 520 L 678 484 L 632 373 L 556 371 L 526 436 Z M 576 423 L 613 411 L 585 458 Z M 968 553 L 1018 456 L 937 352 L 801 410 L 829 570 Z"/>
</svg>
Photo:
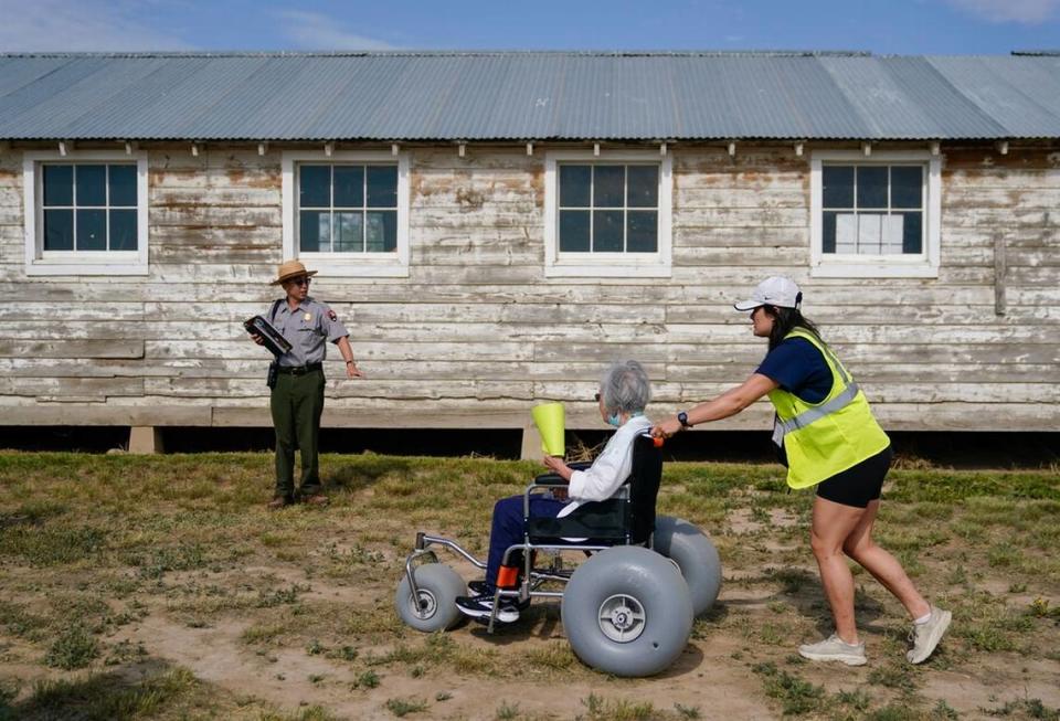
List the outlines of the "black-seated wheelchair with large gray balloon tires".
<svg viewBox="0 0 1060 721">
<path fill-rule="evenodd" d="M 523 541 L 505 552 L 504 566 L 517 565 L 519 573 L 504 586 L 504 573 L 498 580 L 489 633 L 502 597 L 560 598 L 564 634 L 586 665 L 616 676 L 651 676 L 669 667 L 688 644 L 695 616 L 718 597 L 721 562 L 695 526 L 656 516 L 661 475 L 661 449 L 650 436 L 639 436 L 633 471 L 618 492 L 564 518 L 527 518 L 532 494 L 566 487 L 555 474 L 534 478 L 524 492 Z M 433 547 L 486 569 L 457 542 L 416 533 L 394 603 L 405 624 L 427 633 L 459 624 L 465 616 L 456 597 L 467 594 L 464 579 L 438 562 Z M 563 554 L 570 552 L 589 558 L 568 568 Z M 555 585 L 561 590 L 550 590 Z"/>
</svg>

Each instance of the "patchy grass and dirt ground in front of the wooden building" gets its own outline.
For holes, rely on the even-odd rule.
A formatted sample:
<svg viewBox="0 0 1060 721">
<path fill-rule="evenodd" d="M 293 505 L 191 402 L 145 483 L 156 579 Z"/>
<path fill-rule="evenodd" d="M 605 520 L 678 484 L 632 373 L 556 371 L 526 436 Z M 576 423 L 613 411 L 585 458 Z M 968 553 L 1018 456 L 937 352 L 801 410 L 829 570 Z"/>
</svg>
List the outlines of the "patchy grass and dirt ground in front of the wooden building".
<svg viewBox="0 0 1060 721">
<path fill-rule="evenodd" d="M 534 603 L 494 637 L 475 625 L 422 635 L 394 613 L 415 531 L 484 555 L 494 501 L 521 492 L 536 464 L 325 456 L 331 506 L 271 513 L 268 454 L 0 453 L 0 719 L 327 721 L 350 702 L 364 715 L 477 718 L 456 682 L 471 679 L 488 701 L 478 714 L 669 721 L 716 714 L 655 695 L 685 683 L 700 698 L 714 666 L 738 688 L 704 688 L 759 714 L 1057 719 L 1060 703 L 1024 689 L 1060 674 L 1060 475 L 907 466 L 888 481 L 877 540 L 954 613 L 931 661 L 904 662 L 901 608 L 857 569 L 869 666 L 803 661 L 795 647 L 831 623 L 807 541 L 812 494 L 786 492 L 776 466 L 667 464 L 659 511 L 711 536 L 722 603 L 696 621 L 679 676 L 628 680 L 581 664 L 556 603 Z M 201 645 L 181 666 L 161 661 L 184 643 Z M 197 678 L 195 654 L 218 648 L 248 686 Z M 939 671 L 1001 678 L 1007 692 L 940 701 Z M 306 704 L 263 700 L 268 683 Z M 560 683 L 601 690 L 558 701 L 554 713 L 488 691 Z"/>
</svg>

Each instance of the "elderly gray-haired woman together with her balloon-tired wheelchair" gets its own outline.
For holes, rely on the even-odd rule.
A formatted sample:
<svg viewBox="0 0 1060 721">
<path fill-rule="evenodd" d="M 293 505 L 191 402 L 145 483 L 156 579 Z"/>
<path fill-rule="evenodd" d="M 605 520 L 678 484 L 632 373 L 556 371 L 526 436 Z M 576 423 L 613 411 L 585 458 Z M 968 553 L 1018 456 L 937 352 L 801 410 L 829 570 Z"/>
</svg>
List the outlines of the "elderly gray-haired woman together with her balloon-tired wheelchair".
<svg viewBox="0 0 1060 721">
<path fill-rule="evenodd" d="M 639 363 L 608 368 L 596 400 L 601 418 L 617 431 L 594 463 L 548 457 L 552 473 L 498 501 L 486 561 L 418 532 L 394 597 L 401 619 L 432 633 L 470 616 L 492 633 L 517 621 L 531 598 L 558 598 L 563 630 L 585 664 L 618 676 L 667 668 L 687 645 L 695 615 L 718 597 L 721 563 L 695 526 L 655 515 L 662 452 L 644 416 L 649 397 Z M 465 585 L 432 547 L 485 570 L 485 580 Z M 589 558 L 564 568 L 570 551 Z"/>
</svg>

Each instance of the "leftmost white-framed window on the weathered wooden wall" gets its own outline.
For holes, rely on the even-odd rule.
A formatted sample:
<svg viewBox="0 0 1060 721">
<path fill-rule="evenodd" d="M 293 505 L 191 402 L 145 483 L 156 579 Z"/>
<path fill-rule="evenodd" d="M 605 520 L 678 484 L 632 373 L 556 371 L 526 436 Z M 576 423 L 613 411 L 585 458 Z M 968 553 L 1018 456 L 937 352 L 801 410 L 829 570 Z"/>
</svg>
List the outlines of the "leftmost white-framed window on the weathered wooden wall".
<svg viewBox="0 0 1060 721">
<path fill-rule="evenodd" d="M 147 273 L 147 157 L 26 152 L 29 275 Z"/>
</svg>

